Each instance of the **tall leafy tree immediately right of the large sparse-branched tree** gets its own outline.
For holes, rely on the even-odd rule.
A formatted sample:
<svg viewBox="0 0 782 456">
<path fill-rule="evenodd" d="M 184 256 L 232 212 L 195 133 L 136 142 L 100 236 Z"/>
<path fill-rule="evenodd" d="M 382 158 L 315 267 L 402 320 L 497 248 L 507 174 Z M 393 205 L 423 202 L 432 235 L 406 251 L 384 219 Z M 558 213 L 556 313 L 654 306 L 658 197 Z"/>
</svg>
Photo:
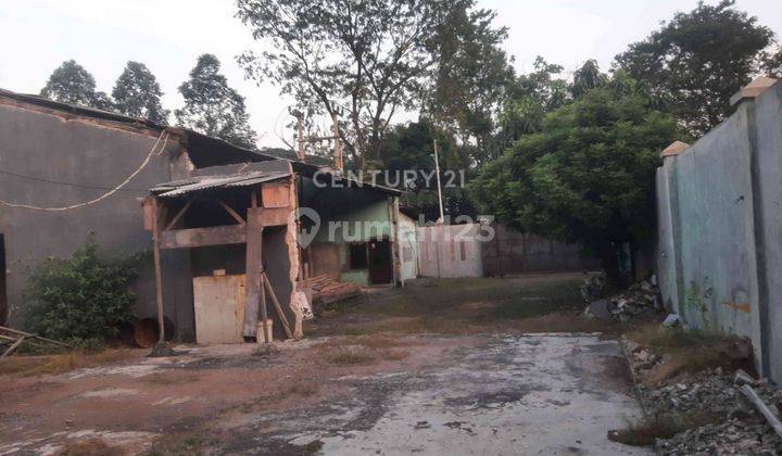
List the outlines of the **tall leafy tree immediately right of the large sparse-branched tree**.
<svg viewBox="0 0 782 456">
<path fill-rule="evenodd" d="M 474 8 L 472 1 L 453 8 L 434 34 L 430 48 L 438 59 L 424 107 L 481 163 L 515 74 L 501 48 L 507 28 L 492 26 L 495 12 Z"/>
</svg>

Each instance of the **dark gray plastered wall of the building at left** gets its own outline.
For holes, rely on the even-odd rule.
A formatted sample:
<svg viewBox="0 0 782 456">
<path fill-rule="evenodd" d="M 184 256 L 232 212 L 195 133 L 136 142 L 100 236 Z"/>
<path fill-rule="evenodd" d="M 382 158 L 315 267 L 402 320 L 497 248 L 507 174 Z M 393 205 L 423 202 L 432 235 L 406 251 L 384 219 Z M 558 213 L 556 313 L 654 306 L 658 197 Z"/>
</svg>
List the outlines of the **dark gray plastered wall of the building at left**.
<svg viewBox="0 0 782 456">
<path fill-rule="evenodd" d="M 91 118 L 38 112 L 5 104 L 0 99 L 0 170 L 27 176 L 0 174 L 0 199 L 37 206 L 91 200 L 130 175 L 147 156 L 156 135 L 100 127 Z M 11 325 L 22 322 L 26 279 L 42 258 L 70 255 L 90 233 L 109 253 L 151 249 L 151 236 L 143 230 L 137 199 L 144 197 L 153 183 L 180 177 L 180 169 L 173 164 L 180 149 L 177 141 L 169 141 L 166 150 L 154 156 L 125 190 L 87 207 L 36 212 L 0 205 Z M 189 254 L 165 252 L 163 256 L 166 316 L 175 321 L 178 338 L 190 339 L 193 317 Z M 150 255 L 137 283 L 140 317 L 155 314 L 152 277 Z"/>
</svg>

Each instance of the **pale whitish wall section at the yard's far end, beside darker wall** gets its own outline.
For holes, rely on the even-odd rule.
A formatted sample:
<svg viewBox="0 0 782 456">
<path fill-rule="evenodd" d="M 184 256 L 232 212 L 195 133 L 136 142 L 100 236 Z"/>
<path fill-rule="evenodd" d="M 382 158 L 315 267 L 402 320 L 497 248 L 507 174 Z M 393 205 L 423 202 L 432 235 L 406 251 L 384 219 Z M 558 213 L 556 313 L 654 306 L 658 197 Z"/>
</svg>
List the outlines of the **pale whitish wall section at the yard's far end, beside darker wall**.
<svg viewBox="0 0 782 456">
<path fill-rule="evenodd" d="M 483 277 L 480 224 L 418 227 L 421 277 Z"/>
</svg>

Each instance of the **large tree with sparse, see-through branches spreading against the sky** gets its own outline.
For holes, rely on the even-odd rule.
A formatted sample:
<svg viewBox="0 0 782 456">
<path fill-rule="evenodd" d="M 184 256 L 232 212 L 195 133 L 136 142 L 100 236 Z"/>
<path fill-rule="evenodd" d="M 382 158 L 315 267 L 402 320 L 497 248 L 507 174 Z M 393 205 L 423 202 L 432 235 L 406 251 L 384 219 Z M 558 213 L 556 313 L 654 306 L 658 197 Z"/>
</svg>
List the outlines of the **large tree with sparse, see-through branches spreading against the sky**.
<svg viewBox="0 0 782 456">
<path fill-rule="evenodd" d="M 377 160 L 394 113 L 420 104 L 436 61 L 432 34 L 463 1 L 238 0 L 237 15 L 265 49 L 239 62 L 302 106 L 344 111 L 346 157 L 365 168 Z"/>
</svg>

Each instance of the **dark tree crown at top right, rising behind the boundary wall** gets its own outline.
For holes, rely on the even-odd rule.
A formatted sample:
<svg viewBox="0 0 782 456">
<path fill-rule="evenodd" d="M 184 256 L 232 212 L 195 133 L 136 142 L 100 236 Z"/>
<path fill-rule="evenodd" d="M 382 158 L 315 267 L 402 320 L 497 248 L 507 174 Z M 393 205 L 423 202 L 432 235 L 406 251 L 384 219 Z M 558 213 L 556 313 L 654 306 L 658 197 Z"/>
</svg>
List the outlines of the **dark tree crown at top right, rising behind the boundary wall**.
<svg viewBox="0 0 782 456">
<path fill-rule="evenodd" d="M 764 50 L 773 41 L 771 29 L 733 4 L 699 2 L 617 55 L 617 65 L 694 136 L 730 114 L 730 98 L 759 72 Z"/>
</svg>

